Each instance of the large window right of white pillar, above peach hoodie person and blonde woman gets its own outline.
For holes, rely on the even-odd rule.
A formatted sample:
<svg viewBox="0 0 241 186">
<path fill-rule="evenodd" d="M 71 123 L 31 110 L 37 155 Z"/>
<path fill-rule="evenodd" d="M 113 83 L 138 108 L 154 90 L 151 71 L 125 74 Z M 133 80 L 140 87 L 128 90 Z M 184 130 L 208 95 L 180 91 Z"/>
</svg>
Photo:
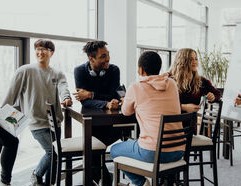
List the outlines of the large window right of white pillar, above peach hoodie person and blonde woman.
<svg viewBox="0 0 241 186">
<path fill-rule="evenodd" d="M 163 57 L 165 69 L 169 68 L 173 55 L 179 48 L 205 51 L 207 10 L 206 6 L 196 0 L 138 0 L 137 47 L 141 51 L 168 53 L 168 56 Z"/>
</svg>

